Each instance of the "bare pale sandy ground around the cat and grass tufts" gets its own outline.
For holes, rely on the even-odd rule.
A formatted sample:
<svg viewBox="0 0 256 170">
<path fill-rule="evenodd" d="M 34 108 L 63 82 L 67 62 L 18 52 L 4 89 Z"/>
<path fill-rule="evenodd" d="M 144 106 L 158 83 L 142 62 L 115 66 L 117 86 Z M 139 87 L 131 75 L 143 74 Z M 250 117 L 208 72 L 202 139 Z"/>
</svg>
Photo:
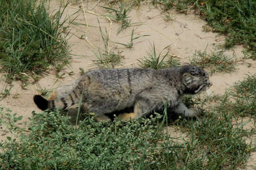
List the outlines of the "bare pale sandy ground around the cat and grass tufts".
<svg viewBox="0 0 256 170">
<path fill-rule="evenodd" d="M 42 89 L 54 89 L 58 86 L 69 84 L 71 80 L 79 76 L 79 68 L 83 68 L 85 71 L 97 68 L 92 64 L 92 60 L 97 59 L 93 51 L 97 51 L 98 48 L 104 49 L 97 18 L 102 29 L 105 31 L 106 28 L 107 33 L 110 35 L 109 49 L 115 52 L 122 51 L 121 54 L 124 55 L 124 63 L 117 66 L 119 68 L 138 67 L 137 59 L 147 56 L 147 51 L 150 51 L 150 43 L 155 44 L 158 53 L 169 45 L 168 50 L 170 50 L 170 54 L 177 56 L 181 59 L 182 63 L 185 63 L 189 62 L 189 58 L 193 56 L 195 50 L 203 51 L 208 45 L 208 51 L 211 51 L 214 45 L 224 42 L 223 35 L 203 32 L 202 26 L 206 23 L 196 14 L 183 15 L 170 12 L 169 15 L 172 19 L 166 21 L 165 16 L 161 14 L 159 9 L 150 4 L 143 4 L 144 2 L 141 2 L 140 8 L 137 10 L 132 9 L 129 14 L 129 19 L 132 19 L 132 26 L 117 35 L 120 24 L 110 23 L 108 18 L 103 16 L 106 15 L 106 10 L 98 6 L 95 7 L 96 3 L 96 1 L 84 3 L 85 16 L 82 11 L 71 16 L 79 10 L 79 6 L 82 7 L 82 4 L 70 4 L 65 11 L 66 17 L 71 16 L 70 20 L 75 18 L 74 23 L 76 24 L 71 24 L 68 28 L 71 31 L 68 35 L 68 42 L 71 45 L 72 60 L 71 65 L 62 71 L 66 73 L 64 78 L 57 79 L 54 76 L 55 72 L 50 70 L 43 75 L 43 78 L 38 83 L 26 86 L 26 90 L 21 88 L 20 82 L 13 82 L 11 95 L 0 101 L 1 106 L 10 108 L 13 112 L 17 112 L 18 116 L 22 115 L 23 121 L 28 121 L 33 110 L 40 112 L 33 102 L 33 95 L 40 93 Z M 59 3 L 52 0 L 51 7 L 51 10 L 58 9 Z M 86 24 L 85 17 L 88 28 L 85 25 L 78 25 L 78 23 Z M 124 46 L 115 43 L 129 43 L 132 29 L 134 29 L 133 37 L 141 35 L 150 36 L 142 36 L 134 40 L 132 49 L 124 48 Z M 239 59 L 243 57 L 242 50 L 242 47 L 238 46 L 231 51 L 227 51 L 227 53 L 231 55 L 235 52 Z M 252 64 L 250 68 L 247 67 L 247 64 L 240 64 L 237 66 L 238 71 L 235 73 L 211 76 L 210 79 L 213 86 L 210 88 L 210 92 L 222 94 L 227 87 L 238 80 L 242 80 L 247 74 L 255 74 L 256 61 L 249 62 Z M 68 73 L 71 71 L 74 72 L 74 75 L 68 76 Z M 5 86 L 5 82 L 1 80 L 0 89 L 3 89 Z M 18 98 L 16 98 L 17 96 Z M 254 125 L 248 125 L 248 127 L 255 128 Z M 182 136 L 181 132 L 177 132 L 172 127 L 168 127 L 168 131 L 172 132 L 170 133 L 171 136 Z M 6 139 L 6 136 L 11 136 L 10 133 L 0 133 L 1 140 Z M 248 165 L 255 165 L 256 153 L 252 154 L 250 160 L 253 161 L 250 161 Z"/>
</svg>

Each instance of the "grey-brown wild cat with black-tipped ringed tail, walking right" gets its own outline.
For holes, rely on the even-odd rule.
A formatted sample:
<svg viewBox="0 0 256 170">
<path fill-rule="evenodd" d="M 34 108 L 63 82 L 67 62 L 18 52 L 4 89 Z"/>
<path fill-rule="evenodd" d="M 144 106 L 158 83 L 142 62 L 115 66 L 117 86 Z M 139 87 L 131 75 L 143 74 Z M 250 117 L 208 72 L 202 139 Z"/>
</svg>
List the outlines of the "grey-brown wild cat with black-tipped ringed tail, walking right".
<svg viewBox="0 0 256 170">
<path fill-rule="evenodd" d="M 119 114 L 120 119 L 136 119 L 167 103 L 172 111 L 185 117 L 198 112 L 180 102 L 185 94 L 196 94 L 212 86 L 202 68 L 184 65 L 176 68 L 98 69 L 85 73 L 68 88 L 56 90 L 46 100 L 34 96 L 41 110 L 64 110 L 81 101 L 86 112 L 95 113 L 98 120 L 109 119 L 105 114 L 133 107 L 133 112 Z"/>
</svg>

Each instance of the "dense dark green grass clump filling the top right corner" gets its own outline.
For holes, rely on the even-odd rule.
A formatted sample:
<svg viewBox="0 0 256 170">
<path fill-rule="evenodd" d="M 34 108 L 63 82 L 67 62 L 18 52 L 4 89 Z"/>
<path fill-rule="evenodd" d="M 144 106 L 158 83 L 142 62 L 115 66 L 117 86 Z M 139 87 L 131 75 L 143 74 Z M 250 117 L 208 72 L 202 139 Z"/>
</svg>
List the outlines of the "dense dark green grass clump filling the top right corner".
<svg viewBox="0 0 256 170">
<path fill-rule="evenodd" d="M 256 50 L 255 0 L 205 0 L 205 5 L 198 7 L 215 32 L 228 34 L 225 47 L 244 44 L 248 50 Z"/>
</svg>

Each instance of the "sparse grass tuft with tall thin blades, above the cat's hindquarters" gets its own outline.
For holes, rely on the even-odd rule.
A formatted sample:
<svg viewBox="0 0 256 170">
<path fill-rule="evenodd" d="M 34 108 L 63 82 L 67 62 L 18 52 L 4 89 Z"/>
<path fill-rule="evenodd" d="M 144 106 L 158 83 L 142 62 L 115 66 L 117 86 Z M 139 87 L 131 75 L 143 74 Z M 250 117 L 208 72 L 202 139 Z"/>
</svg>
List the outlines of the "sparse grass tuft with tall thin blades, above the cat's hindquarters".
<svg viewBox="0 0 256 170">
<path fill-rule="evenodd" d="M 98 20 L 99 23 L 99 20 Z M 115 53 L 110 50 L 110 41 L 105 30 L 105 34 L 103 33 L 100 23 L 99 30 L 101 34 L 102 41 L 104 42 L 104 50 L 98 50 L 95 53 L 97 60 L 93 60 L 93 63 L 97 65 L 99 68 L 115 68 L 116 65 L 120 65 L 123 62 L 124 56 L 121 55 L 122 52 Z"/>
</svg>

